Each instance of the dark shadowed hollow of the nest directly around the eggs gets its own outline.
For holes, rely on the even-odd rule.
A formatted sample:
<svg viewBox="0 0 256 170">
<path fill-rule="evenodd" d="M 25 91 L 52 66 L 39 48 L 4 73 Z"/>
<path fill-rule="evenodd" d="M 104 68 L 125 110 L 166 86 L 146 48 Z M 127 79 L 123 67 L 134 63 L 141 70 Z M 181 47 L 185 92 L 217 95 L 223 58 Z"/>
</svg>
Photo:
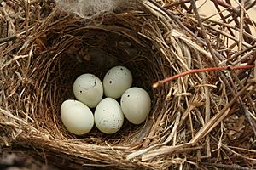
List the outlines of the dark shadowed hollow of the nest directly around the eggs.
<svg viewBox="0 0 256 170">
<path fill-rule="evenodd" d="M 120 140 L 126 140 L 129 136 L 137 138 L 136 136 L 139 136 L 139 133 L 145 130 L 145 122 L 140 125 L 133 125 L 125 120 L 121 130 L 112 135 L 103 134 L 94 126 L 90 133 L 82 137 L 68 133 L 61 123 L 61 103 L 66 99 L 75 99 L 73 95 L 73 82 L 77 77 L 84 73 L 91 73 L 102 80 L 110 68 L 115 65 L 124 65 L 132 73 L 132 86 L 144 88 L 152 99 L 152 110 L 148 121 L 146 121 L 146 125 L 152 126 L 150 117 L 154 112 L 156 97 L 151 87 L 152 83 L 158 79 L 159 67 L 162 65 L 157 65 L 153 51 L 148 44 L 141 46 L 127 37 L 108 31 L 87 31 L 80 32 L 79 34 L 93 35 L 93 37 L 81 36 L 79 41 L 67 43 L 65 50 L 62 50 L 57 55 L 53 55 L 55 56 L 54 61 L 52 61 L 51 66 L 48 68 L 49 83 L 46 87 L 47 92 L 44 94 L 44 98 L 48 98 L 44 99 L 46 114 L 48 115 L 44 116 L 44 119 L 48 117 L 48 120 L 44 121 L 44 128 L 51 129 L 50 133 L 58 139 L 60 135 L 61 138 L 65 139 L 86 138 L 88 139 L 87 142 L 96 144 L 102 143 L 105 140 L 112 144 L 120 143 Z M 53 41 L 52 44 L 54 43 Z M 62 45 L 60 44 L 60 47 Z M 58 47 L 56 46 L 56 48 Z M 52 56 L 49 59 L 52 59 Z M 45 66 L 47 67 L 47 65 Z M 49 99 L 49 96 L 52 99 Z M 161 96 L 161 98 L 164 99 L 165 96 Z M 54 116 L 54 119 L 49 120 L 50 116 Z M 145 136 L 147 136 L 146 133 Z M 131 143 L 131 141 L 126 142 Z M 122 141 L 123 143 L 125 141 Z"/>
</svg>

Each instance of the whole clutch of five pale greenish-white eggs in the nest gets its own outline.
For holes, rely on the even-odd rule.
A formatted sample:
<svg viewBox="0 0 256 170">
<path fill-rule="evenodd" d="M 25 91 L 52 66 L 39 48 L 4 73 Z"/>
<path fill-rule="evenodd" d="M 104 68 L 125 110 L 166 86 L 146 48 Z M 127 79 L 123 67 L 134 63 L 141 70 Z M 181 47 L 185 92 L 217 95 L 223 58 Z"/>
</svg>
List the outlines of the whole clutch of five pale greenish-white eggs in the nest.
<svg viewBox="0 0 256 170">
<path fill-rule="evenodd" d="M 125 66 L 110 69 L 102 82 L 93 74 L 79 76 L 73 83 L 77 100 L 62 103 L 61 121 L 70 133 L 77 135 L 89 133 L 94 124 L 102 133 L 111 134 L 119 131 L 125 118 L 133 124 L 144 122 L 151 99 L 143 88 L 131 85 L 131 71 Z M 96 108 L 94 114 L 92 108 Z"/>
</svg>

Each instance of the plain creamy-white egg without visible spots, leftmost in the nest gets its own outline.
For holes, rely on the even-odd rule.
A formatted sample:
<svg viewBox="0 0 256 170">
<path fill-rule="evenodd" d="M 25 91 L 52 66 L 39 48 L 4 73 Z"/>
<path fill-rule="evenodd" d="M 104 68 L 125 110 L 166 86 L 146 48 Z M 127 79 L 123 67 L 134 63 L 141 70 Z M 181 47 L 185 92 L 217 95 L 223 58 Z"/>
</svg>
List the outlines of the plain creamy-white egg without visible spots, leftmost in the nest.
<svg viewBox="0 0 256 170">
<path fill-rule="evenodd" d="M 83 135 L 93 127 L 94 116 L 84 103 L 67 99 L 61 105 L 61 121 L 70 133 Z"/>
</svg>

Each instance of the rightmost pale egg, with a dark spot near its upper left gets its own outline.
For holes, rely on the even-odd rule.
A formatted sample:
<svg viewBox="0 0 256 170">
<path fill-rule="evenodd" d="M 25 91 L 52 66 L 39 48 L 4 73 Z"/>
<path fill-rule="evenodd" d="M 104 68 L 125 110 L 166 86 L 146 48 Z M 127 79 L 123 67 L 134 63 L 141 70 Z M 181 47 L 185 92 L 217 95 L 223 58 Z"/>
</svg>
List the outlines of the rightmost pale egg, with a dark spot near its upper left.
<svg viewBox="0 0 256 170">
<path fill-rule="evenodd" d="M 151 108 L 151 99 L 143 88 L 129 88 L 121 97 L 121 108 L 126 119 L 133 124 L 146 120 Z"/>
</svg>

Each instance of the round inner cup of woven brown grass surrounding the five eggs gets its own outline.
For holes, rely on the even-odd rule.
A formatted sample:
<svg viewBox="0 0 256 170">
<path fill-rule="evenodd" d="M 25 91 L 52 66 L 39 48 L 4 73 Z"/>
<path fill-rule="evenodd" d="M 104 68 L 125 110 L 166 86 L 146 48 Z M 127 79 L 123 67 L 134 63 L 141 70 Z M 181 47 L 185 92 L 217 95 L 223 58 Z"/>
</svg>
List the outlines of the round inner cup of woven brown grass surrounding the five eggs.
<svg viewBox="0 0 256 170">
<path fill-rule="evenodd" d="M 61 17 L 60 14 L 58 18 Z M 75 99 L 75 79 L 81 74 L 91 73 L 103 80 L 106 72 L 115 65 L 127 67 L 133 75 L 133 86 L 144 88 L 150 94 L 153 108 L 147 122 L 152 124 L 152 115 L 159 115 L 154 113 L 159 111 L 155 104 L 156 96 L 161 95 L 160 99 L 164 100 L 166 95 L 153 90 L 152 84 L 164 77 L 160 70 L 166 69 L 166 75 L 170 72 L 163 66 L 166 61 L 158 59 L 158 54 L 151 49 L 152 43 L 131 30 L 134 28 L 125 26 L 131 20 L 129 17 L 125 20 L 118 17 L 107 15 L 104 19 L 100 17 L 92 22 L 70 16 L 45 29 L 43 35 L 38 34 L 39 41 L 45 38 L 45 47 L 38 49 L 42 50 L 38 56 L 34 54 L 32 57 L 33 65 L 38 65 L 38 68 L 30 77 L 32 82 L 38 83 L 31 93 L 41 96 L 41 99 L 32 105 L 35 108 L 36 124 L 43 129 L 50 129 L 49 134 L 55 139 L 86 138 L 87 141 L 90 140 L 90 144 L 107 142 L 126 145 L 139 143 L 147 136 L 149 129 L 142 132 L 145 123 L 137 126 L 127 121 L 118 133 L 112 135 L 105 135 L 94 128 L 83 137 L 78 137 L 68 133 L 63 127 L 60 119 L 61 103 L 66 99 Z M 100 25 L 95 25 L 96 21 L 101 20 L 103 22 Z M 104 20 L 108 21 L 105 23 Z M 113 26 L 113 23 L 118 26 Z M 158 62 L 160 65 L 156 64 Z"/>
</svg>

